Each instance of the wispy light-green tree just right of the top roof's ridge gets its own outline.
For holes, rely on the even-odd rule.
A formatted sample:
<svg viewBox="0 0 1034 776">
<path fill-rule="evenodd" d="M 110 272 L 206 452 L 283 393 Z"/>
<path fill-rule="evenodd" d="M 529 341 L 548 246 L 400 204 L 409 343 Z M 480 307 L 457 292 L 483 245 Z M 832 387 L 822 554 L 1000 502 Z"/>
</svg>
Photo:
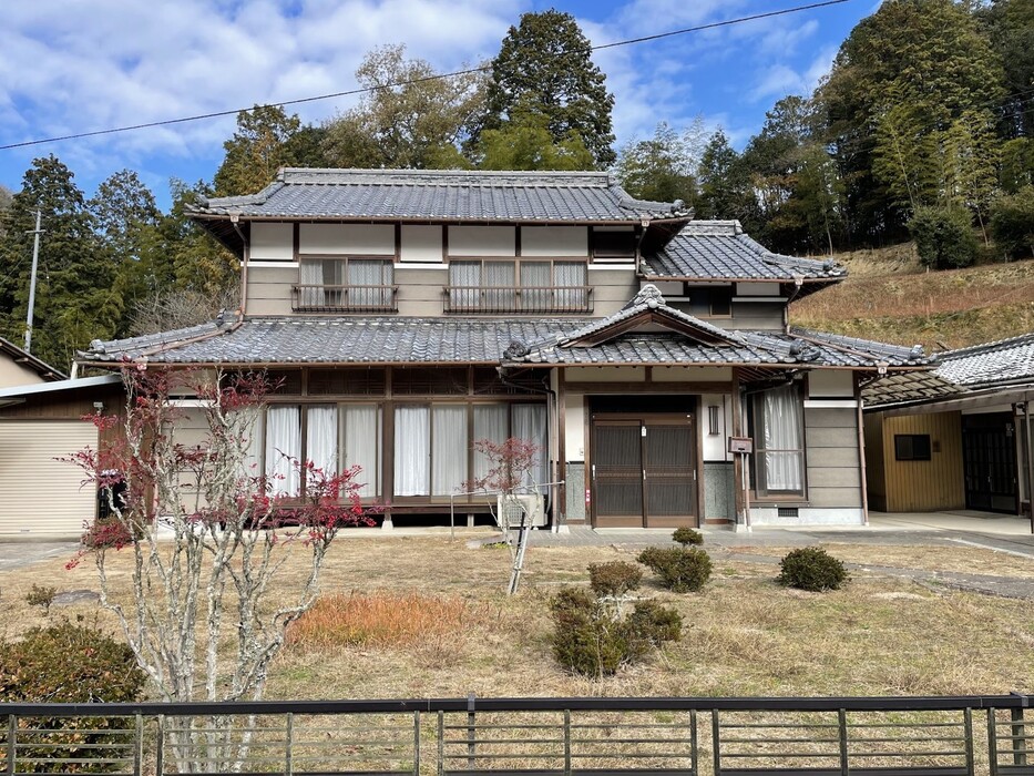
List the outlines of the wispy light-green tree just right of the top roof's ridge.
<svg viewBox="0 0 1034 776">
<path fill-rule="evenodd" d="M 679 134 L 666 122 L 657 124 L 654 136 L 626 143 L 618 151 L 615 172 L 622 187 L 632 196 L 654 202 L 697 201 L 692 136 Z"/>
</svg>

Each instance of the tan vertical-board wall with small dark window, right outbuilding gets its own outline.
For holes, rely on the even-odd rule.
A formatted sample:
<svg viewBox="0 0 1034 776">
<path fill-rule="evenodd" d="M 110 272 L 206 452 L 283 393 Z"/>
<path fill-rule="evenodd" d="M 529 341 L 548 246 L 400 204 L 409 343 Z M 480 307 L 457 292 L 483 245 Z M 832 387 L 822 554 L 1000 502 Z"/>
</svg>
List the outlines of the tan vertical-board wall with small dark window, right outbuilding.
<svg viewBox="0 0 1034 776">
<path fill-rule="evenodd" d="M 933 450 L 931 460 L 895 460 L 895 433 L 929 433 Z M 887 511 L 924 512 L 965 508 L 961 412 L 885 418 L 882 452 Z"/>
</svg>

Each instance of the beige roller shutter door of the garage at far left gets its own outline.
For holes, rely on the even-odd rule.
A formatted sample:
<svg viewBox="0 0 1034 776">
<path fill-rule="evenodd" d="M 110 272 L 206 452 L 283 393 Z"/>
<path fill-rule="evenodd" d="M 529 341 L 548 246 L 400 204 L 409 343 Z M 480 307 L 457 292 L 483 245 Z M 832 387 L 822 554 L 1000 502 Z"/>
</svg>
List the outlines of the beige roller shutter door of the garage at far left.
<svg viewBox="0 0 1034 776">
<path fill-rule="evenodd" d="M 82 420 L 0 422 L 0 539 L 82 533 L 95 491 L 54 458 L 85 447 L 96 449 L 96 429 Z"/>
</svg>

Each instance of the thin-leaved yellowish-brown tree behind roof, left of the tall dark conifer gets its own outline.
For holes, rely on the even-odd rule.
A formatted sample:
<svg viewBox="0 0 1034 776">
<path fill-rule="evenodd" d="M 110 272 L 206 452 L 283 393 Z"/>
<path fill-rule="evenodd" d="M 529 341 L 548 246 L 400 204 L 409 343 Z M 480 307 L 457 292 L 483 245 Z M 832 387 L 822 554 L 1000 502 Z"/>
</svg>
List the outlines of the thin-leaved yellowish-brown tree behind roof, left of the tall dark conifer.
<svg viewBox="0 0 1034 776">
<path fill-rule="evenodd" d="M 356 108 L 329 121 L 323 152 L 332 166 L 455 169 L 484 109 L 481 72 L 437 78 L 403 45 L 369 52 L 356 71 L 369 90 Z"/>
</svg>

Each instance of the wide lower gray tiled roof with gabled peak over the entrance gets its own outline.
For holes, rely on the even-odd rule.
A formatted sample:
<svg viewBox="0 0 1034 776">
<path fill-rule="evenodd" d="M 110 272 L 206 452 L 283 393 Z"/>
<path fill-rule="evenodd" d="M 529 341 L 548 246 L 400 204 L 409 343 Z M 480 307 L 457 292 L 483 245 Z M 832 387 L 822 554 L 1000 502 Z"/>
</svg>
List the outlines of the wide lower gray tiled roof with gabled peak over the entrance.
<svg viewBox="0 0 1034 776">
<path fill-rule="evenodd" d="M 606 318 L 255 317 L 93 341 L 93 364 L 755 365 L 920 368 L 922 350 L 805 329 L 727 331 L 668 307 L 646 286 Z"/>
</svg>

